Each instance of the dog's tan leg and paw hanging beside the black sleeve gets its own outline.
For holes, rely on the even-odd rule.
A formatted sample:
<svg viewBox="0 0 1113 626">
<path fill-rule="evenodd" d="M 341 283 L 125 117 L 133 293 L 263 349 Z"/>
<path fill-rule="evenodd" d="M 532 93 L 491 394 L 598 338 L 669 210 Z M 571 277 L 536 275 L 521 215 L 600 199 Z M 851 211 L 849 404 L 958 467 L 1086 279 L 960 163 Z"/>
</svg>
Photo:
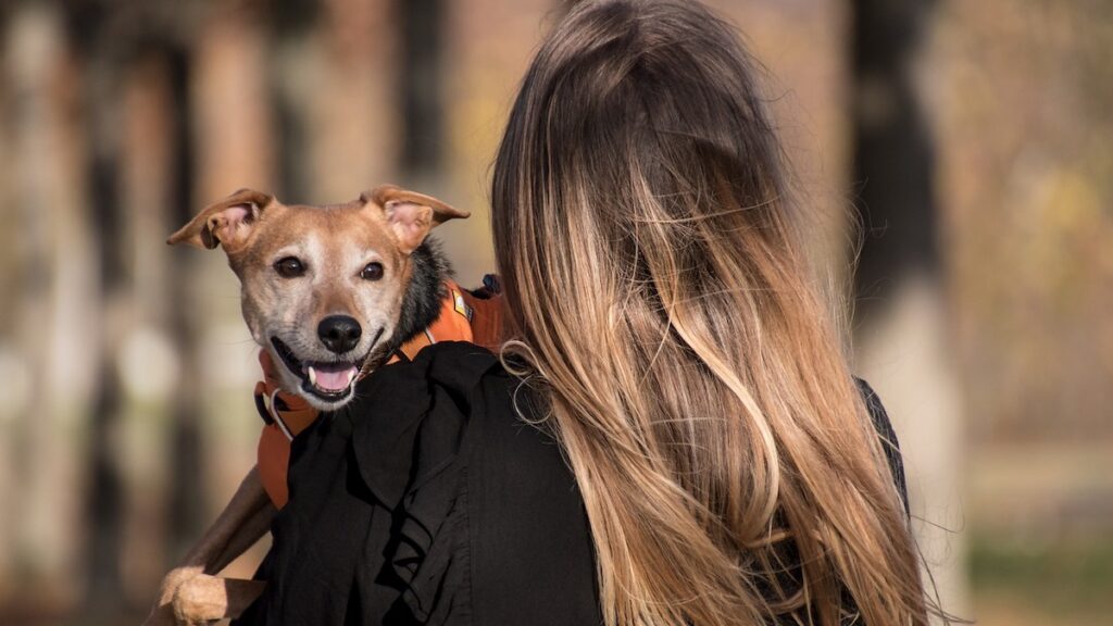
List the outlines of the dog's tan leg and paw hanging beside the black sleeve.
<svg viewBox="0 0 1113 626">
<path fill-rule="evenodd" d="M 270 520 L 275 516 L 275 508 L 270 503 L 263 483 L 259 482 L 258 470 L 252 468 L 239 489 L 232 497 L 228 506 L 220 512 L 216 521 L 201 537 L 200 541 L 186 555 L 181 565 L 170 570 L 162 579 L 159 589 L 158 600 L 155 604 L 150 616 L 144 623 L 145 626 L 168 626 L 173 624 L 189 624 L 193 619 L 190 610 L 204 605 L 204 598 L 214 598 L 213 601 L 226 603 L 225 613 L 236 608 L 238 615 L 255 597 L 262 593 L 263 583 L 237 581 L 229 586 L 227 594 L 215 594 L 211 589 L 216 584 L 209 581 L 223 580 L 211 576 L 224 569 L 244 550 L 252 547 L 270 527 Z M 242 585 L 252 583 L 252 585 Z M 193 587 L 197 587 L 194 589 Z M 225 589 L 221 587 L 221 593 Z M 245 594 L 245 590 L 252 594 Z M 177 598 L 183 597 L 178 603 Z M 246 604 L 238 606 L 247 596 Z M 224 599 L 221 599 L 224 598 Z M 180 610 L 177 604 L 181 604 Z M 233 604 L 237 606 L 232 606 Z M 205 605 L 205 613 L 214 610 Z M 198 618 L 195 622 L 204 623 L 207 618 Z"/>
</svg>

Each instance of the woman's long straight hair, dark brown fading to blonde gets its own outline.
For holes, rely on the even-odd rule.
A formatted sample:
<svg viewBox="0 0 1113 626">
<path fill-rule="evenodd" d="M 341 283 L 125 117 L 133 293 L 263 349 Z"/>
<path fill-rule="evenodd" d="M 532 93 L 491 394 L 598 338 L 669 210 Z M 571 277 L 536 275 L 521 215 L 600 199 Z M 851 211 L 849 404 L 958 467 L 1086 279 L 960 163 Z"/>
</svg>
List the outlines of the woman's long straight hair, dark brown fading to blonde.
<svg viewBox="0 0 1113 626">
<path fill-rule="evenodd" d="M 504 354 L 575 473 L 608 625 L 926 624 L 754 75 L 695 2 L 555 27 L 494 167 Z"/>
</svg>

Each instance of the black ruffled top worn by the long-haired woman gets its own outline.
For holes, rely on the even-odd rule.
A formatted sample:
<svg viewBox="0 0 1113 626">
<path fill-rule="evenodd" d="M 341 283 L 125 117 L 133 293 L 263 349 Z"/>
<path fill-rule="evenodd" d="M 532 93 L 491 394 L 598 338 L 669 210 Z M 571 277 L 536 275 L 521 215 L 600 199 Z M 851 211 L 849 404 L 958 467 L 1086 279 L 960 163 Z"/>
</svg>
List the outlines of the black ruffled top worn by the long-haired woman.
<svg viewBox="0 0 1113 626">
<path fill-rule="evenodd" d="M 859 388 L 903 495 L 888 418 Z M 295 438 L 268 584 L 235 624 L 602 624 L 583 501 L 559 444 L 518 417 L 529 402 L 470 343 L 361 381 Z"/>
</svg>

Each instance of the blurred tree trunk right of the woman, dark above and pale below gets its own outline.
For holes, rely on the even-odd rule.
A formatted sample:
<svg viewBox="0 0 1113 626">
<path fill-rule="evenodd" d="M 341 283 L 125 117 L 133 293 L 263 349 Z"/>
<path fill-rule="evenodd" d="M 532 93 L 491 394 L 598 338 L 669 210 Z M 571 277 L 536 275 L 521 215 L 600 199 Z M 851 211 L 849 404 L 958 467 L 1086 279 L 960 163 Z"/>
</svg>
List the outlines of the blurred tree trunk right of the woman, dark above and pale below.
<svg viewBox="0 0 1113 626">
<path fill-rule="evenodd" d="M 935 146 L 917 67 L 936 0 L 854 0 L 854 183 L 865 238 L 855 276 L 858 371 L 902 443 L 914 530 L 944 610 L 965 608 L 958 535 L 962 411 L 939 253 Z M 925 578 L 933 594 L 930 579 Z"/>
</svg>

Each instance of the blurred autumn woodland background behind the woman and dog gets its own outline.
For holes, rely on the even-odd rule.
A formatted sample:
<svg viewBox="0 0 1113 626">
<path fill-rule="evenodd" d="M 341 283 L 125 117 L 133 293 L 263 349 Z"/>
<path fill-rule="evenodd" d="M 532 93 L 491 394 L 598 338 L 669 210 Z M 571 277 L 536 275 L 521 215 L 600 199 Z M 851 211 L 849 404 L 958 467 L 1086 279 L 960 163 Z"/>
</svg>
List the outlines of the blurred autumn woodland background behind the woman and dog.
<svg viewBox="0 0 1113 626">
<path fill-rule="evenodd" d="M 712 0 L 766 84 L 944 607 L 1113 623 L 1113 3 Z M 0 623 L 138 623 L 254 463 L 252 186 L 473 212 L 555 0 L 0 2 Z M 851 217 L 853 216 L 853 217 Z M 247 576 L 259 546 L 232 566 Z"/>
</svg>

